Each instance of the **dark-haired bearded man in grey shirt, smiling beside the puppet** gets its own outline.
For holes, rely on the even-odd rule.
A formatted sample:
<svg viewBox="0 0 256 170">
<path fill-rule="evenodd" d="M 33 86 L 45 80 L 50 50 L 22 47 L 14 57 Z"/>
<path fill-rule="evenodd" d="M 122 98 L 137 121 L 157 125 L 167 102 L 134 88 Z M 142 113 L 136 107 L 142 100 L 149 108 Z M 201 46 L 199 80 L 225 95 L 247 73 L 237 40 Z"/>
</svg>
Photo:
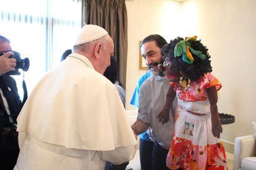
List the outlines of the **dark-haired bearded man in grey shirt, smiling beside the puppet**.
<svg viewBox="0 0 256 170">
<path fill-rule="evenodd" d="M 153 151 L 151 155 L 147 156 L 151 156 L 151 160 L 140 160 L 142 169 L 168 169 L 165 160 L 171 145 L 171 140 L 173 139 L 174 120 L 173 116 L 171 116 L 173 114 L 173 108 L 164 108 L 168 110 L 170 114 L 168 123 L 162 124 L 158 122 L 157 118 L 164 107 L 164 101 L 169 87 L 168 78 L 158 69 L 158 64 L 163 63 L 161 47 L 163 47 L 164 44 L 167 44 L 167 42 L 163 37 L 158 34 L 152 34 L 144 38 L 140 45 L 142 57 L 145 59 L 152 75 L 147 78 L 140 87 L 137 121 L 132 125 L 137 135 L 147 131 L 148 127 L 150 127 L 149 136 L 153 141 Z M 173 107 L 176 107 L 177 100 L 173 103 Z M 144 142 L 143 139 L 142 141 Z M 140 141 L 140 144 L 143 142 Z M 145 148 L 144 144 L 140 145 L 140 150 L 141 147 Z M 143 150 L 147 150 L 144 148 Z M 152 163 L 152 168 L 145 168 L 145 166 L 150 163 Z"/>
</svg>

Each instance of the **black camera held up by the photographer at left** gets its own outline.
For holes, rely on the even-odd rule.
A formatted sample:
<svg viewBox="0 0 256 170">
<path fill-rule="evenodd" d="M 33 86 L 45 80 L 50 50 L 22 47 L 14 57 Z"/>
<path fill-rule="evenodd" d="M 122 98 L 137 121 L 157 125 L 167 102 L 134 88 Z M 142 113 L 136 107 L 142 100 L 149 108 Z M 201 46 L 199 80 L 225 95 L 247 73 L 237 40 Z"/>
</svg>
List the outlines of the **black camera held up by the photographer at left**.
<svg viewBox="0 0 256 170">
<path fill-rule="evenodd" d="M 0 57 L 6 52 L 1 52 Z M 19 52 L 16 52 L 16 51 L 11 51 L 11 52 L 13 52 L 14 55 L 11 55 L 9 58 L 16 59 L 16 67 L 14 71 L 8 71 L 5 75 L 20 75 L 19 69 L 22 69 L 23 71 L 28 71 L 29 59 L 28 58 L 21 59 Z"/>
</svg>

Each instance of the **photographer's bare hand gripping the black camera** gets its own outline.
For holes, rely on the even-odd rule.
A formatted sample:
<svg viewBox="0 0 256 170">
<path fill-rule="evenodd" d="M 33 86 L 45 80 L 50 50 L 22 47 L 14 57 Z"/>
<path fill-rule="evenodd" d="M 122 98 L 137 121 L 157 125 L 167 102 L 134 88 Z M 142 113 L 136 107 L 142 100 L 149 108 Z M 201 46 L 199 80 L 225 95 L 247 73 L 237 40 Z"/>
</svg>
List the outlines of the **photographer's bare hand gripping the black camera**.
<svg viewBox="0 0 256 170">
<path fill-rule="evenodd" d="M 14 55 L 14 53 L 9 51 L 0 56 L 0 75 L 15 70 L 16 60 L 9 58 L 11 55 Z"/>
</svg>

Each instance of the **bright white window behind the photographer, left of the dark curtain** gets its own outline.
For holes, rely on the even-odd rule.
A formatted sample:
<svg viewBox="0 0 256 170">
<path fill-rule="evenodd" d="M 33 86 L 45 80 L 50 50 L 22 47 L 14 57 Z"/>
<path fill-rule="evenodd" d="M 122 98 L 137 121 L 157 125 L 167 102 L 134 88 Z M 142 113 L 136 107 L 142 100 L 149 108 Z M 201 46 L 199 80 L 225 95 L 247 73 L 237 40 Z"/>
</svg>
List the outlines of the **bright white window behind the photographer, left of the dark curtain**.
<svg viewBox="0 0 256 170">
<path fill-rule="evenodd" d="M 62 53 L 72 49 L 81 28 L 82 0 L 0 0 L 0 4 L 0 34 L 22 59 L 30 59 L 25 72 L 30 94 L 45 72 L 60 63 Z M 23 76 L 14 78 L 22 94 Z"/>
</svg>

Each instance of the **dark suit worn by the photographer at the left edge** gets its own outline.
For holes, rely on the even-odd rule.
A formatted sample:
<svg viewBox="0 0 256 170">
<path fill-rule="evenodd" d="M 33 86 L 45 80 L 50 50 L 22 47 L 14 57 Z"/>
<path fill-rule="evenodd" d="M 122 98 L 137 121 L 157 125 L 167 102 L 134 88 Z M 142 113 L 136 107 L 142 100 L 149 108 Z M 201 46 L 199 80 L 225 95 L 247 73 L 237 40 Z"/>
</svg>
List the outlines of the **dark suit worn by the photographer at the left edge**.
<svg viewBox="0 0 256 170">
<path fill-rule="evenodd" d="M 17 116 L 21 110 L 21 102 L 14 78 L 11 76 L 0 76 L 0 88 L 7 100 L 9 110 L 14 123 L 17 123 Z M 9 116 L 0 95 L 0 167 L 11 170 L 14 168 L 18 155 L 18 132 L 13 123 L 10 123 Z"/>
</svg>

